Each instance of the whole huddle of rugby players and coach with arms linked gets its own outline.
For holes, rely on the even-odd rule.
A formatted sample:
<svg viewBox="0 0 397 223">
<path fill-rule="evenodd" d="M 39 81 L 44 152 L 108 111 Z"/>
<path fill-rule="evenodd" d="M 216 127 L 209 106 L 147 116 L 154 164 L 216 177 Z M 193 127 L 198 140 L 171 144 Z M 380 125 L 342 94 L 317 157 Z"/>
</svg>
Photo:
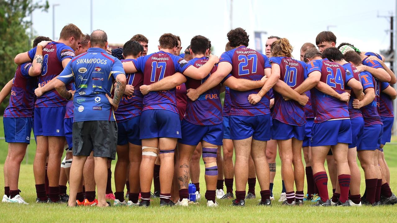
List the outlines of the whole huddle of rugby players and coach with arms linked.
<svg viewBox="0 0 397 223">
<path fill-rule="evenodd" d="M 397 97 L 390 84 L 397 80 L 384 56 L 350 43 L 335 47 L 330 31 L 317 35 L 318 49 L 305 43 L 300 60 L 292 58 L 287 38 L 269 37 L 266 55 L 248 48 L 242 28 L 227 38 L 218 58 L 201 35 L 182 54 L 180 38 L 171 33 L 152 54 L 143 35 L 111 50 L 104 31 L 84 35 L 73 24 L 58 41 L 37 37 L 15 57 L 15 76 L 0 92 L 0 103 L 11 93 L 3 119 L 2 202 L 27 204 L 18 178 L 32 129 L 37 203 L 106 207 L 112 199 L 114 206 L 148 207 L 159 197 L 160 206 L 189 206 L 189 181 L 201 196 L 202 157 L 208 207 L 218 206 L 216 199 L 245 206 L 245 199 L 256 198 L 256 180 L 258 205 L 270 206 L 277 150 L 283 205 L 397 202 L 383 151 Z"/>
</svg>

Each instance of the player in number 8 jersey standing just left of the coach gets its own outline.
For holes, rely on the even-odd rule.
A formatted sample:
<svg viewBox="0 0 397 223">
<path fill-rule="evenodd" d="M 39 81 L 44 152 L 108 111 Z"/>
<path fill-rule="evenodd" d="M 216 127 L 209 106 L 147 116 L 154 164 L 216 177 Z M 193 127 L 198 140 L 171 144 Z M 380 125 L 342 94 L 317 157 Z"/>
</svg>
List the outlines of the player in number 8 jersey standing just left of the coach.
<svg viewBox="0 0 397 223">
<path fill-rule="evenodd" d="M 60 40 L 48 44 L 43 49 L 43 69 L 39 76 L 41 86 L 51 81 L 66 67 L 75 56 L 83 33 L 73 25 L 64 26 L 60 33 Z M 36 48 L 29 52 L 18 54 L 14 61 L 17 64 L 27 62 L 35 55 Z M 71 86 L 68 86 L 71 89 Z M 37 150 L 33 163 L 36 181 L 37 202 L 60 202 L 59 175 L 60 163 L 65 146 L 64 116 L 67 100 L 62 98 L 56 90 L 51 90 L 35 102 L 34 130 L 37 138 Z M 51 121 L 47 121 L 51 117 Z M 45 164 L 48 154 L 49 196 L 45 193 L 44 177 Z M 47 201 L 48 200 L 48 201 Z"/>
</svg>

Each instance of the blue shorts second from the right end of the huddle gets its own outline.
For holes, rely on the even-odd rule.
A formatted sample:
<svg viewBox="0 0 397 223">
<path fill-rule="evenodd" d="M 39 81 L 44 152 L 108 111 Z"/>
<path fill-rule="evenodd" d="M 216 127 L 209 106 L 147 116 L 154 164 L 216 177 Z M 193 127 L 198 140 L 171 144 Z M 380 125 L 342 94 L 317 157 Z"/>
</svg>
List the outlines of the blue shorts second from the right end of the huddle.
<svg viewBox="0 0 397 223">
<path fill-rule="evenodd" d="M 359 150 L 376 150 L 379 138 L 382 137 L 382 125 L 364 126 L 361 141 L 358 142 L 357 151 Z"/>
</svg>

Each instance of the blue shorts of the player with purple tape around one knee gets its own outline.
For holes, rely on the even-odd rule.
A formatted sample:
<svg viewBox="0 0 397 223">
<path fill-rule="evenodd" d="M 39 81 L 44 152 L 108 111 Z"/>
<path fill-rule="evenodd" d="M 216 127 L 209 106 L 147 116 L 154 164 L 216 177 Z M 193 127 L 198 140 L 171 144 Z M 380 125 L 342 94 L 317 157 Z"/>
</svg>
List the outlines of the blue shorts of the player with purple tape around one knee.
<svg viewBox="0 0 397 223">
<path fill-rule="evenodd" d="M 208 143 L 222 146 L 222 138 L 224 136 L 223 124 L 218 125 L 195 125 L 185 119 L 181 124 L 182 138 L 179 143 L 185 145 L 197 146 L 201 140 Z"/>
</svg>

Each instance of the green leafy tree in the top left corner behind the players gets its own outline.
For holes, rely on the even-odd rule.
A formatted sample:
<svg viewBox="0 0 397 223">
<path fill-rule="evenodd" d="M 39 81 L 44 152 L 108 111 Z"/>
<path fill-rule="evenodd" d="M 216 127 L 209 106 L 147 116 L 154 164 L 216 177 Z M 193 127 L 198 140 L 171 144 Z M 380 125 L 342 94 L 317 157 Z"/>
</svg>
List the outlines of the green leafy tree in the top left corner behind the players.
<svg viewBox="0 0 397 223">
<path fill-rule="evenodd" d="M 31 27 L 26 18 L 33 10 L 48 9 L 48 1 L 33 3 L 32 0 L 0 0 L 0 88 L 10 81 L 17 65 L 14 57 L 32 47 L 33 37 L 27 32 Z M 0 105 L 0 113 L 8 106 L 8 100 Z"/>
</svg>

